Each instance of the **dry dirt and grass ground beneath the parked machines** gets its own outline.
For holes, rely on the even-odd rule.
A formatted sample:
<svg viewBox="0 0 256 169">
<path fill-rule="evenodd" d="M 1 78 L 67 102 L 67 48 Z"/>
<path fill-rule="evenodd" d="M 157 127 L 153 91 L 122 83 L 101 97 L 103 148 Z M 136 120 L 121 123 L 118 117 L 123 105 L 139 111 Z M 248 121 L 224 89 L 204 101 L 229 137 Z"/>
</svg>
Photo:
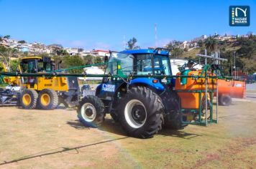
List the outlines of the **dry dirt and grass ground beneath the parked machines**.
<svg viewBox="0 0 256 169">
<path fill-rule="evenodd" d="M 219 124 L 127 137 L 108 116 L 83 127 L 76 110 L 0 107 L 0 168 L 255 168 L 256 103 L 219 107 Z"/>
</svg>

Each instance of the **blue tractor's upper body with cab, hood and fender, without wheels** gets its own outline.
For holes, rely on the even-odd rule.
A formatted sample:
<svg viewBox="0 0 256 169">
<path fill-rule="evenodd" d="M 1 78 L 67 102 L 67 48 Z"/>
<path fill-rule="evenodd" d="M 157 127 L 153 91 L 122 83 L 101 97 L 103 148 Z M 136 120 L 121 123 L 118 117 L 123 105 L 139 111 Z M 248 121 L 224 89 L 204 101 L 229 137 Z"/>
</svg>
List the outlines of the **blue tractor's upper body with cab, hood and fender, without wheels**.
<svg viewBox="0 0 256 169">
<path fill-rule="evenodd" d="M 169 52 L 163 49 L 111 52 L 105 74 L 113 76 L 104 77 L 97 87 L 96 95 L 101 99 L 111 100 L 119 90 L 127 88 L 127 84 L 142 85 L 161 93 L 165 90 L 163 85 L 172 82 Z M 147 75 L 153 77 L 145 77 Z"/>
</svg>

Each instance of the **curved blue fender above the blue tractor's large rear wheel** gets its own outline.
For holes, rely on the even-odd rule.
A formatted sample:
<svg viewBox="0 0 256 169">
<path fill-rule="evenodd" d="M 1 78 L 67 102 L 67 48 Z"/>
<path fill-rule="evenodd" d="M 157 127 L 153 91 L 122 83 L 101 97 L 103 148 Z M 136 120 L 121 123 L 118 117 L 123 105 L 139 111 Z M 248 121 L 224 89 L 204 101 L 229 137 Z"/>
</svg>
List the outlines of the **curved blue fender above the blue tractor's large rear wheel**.
<svg viewBox="0 0 256 169">
<path fill-rule="evenodd" d="M 157 80 L 157 82 L 153 82 L 154 80 Z M 148 86 L 150 88 L 153 88 L 155 90 L 164 91 L 165 87 L 163 84 L 160 83 L 159 79 L 155 78 L 147 78 L 147 77 L 140 77 L 136 79 L 132 79 L 129 85 L 136 85 L 136 84 L 142 84 L 144 86 Z"/>
</svg>

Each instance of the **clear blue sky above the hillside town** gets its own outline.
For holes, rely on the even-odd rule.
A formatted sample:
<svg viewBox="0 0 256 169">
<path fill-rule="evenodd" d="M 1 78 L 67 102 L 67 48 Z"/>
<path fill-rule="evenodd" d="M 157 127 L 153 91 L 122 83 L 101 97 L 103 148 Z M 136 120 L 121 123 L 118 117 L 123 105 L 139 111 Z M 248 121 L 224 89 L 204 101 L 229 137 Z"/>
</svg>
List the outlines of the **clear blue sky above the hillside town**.
<svg viewBox="0 0 256 169">
<path fill-rule="evenodd" d="M 249 5 L 251 24 L 229 26 L 229 6 Z M 85 49 L 140 47 L 202 34 L 256 32 L 256 0 L 0 0 L 0 34 L 14 39 Z"/>
</svg>

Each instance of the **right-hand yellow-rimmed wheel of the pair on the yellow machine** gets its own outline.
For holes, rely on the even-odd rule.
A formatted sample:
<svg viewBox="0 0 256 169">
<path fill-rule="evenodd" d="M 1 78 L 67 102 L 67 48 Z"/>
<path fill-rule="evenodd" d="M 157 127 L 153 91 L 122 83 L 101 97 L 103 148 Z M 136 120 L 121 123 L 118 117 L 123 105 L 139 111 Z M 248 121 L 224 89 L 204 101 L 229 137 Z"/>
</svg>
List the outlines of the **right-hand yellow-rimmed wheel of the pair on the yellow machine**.
<svg viewBox="0 0 256 169">
<path fill-rule="evenodd" d="M 58 102 L 59 97 L 55 90 L 44 89 L 38 95 L 38 107 L 42 110 L 53 110 L 58 106 Z"/>
</svg>

